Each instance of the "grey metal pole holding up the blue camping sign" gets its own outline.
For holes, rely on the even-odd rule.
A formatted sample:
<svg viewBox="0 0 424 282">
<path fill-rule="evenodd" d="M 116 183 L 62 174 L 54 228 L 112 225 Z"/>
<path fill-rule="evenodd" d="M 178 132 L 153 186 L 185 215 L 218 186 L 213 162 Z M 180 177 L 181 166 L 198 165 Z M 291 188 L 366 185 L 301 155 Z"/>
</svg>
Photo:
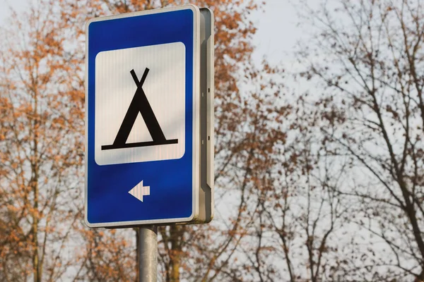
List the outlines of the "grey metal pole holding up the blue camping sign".
<svg viewBox="0 0 424 282">
<path fill-rule="evenodd" d="M 158 278 L 158 226 L 139 229 L 139 280 L 156 282 Z"/>
</svg>

